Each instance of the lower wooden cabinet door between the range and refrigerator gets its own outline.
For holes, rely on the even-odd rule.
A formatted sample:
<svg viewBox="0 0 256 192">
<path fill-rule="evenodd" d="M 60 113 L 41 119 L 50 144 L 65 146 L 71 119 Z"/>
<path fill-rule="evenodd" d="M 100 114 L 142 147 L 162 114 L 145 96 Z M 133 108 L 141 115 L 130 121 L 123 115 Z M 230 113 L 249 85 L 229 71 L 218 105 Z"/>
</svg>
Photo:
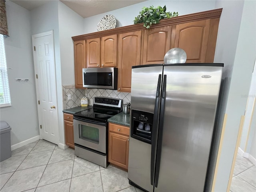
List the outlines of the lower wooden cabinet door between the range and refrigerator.
<svg viewBox="0 0 256 192">
<path fill-rule="evenodd" d="M 129 137 L 109 132 L 108 161 L 128 170 Z"/>
</svg>

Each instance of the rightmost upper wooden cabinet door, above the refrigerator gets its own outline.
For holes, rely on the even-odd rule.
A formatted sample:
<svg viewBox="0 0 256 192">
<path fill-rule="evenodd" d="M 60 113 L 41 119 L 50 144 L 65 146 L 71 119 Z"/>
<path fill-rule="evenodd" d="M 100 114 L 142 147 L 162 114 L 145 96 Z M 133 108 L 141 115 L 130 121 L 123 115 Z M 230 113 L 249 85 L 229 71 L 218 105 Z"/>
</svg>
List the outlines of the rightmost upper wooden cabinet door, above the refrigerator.
<svg viewBox="0 0 256 192">
<path fill-rule="evenodd" d="M 175 47 L 187 54 L 186 63 L 206 62 L 210 19 L 176 25 Z"/>
</svg>

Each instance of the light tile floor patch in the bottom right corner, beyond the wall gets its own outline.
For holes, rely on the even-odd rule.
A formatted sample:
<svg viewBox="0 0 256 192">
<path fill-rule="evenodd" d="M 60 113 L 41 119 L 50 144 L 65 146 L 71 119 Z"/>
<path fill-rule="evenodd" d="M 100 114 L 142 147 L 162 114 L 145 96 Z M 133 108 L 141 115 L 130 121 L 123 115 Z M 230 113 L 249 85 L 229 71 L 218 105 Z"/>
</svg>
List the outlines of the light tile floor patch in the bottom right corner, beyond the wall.
<svg viewBox="0 0 256 192">
<path fill-rule="evenodd" d="M 256 192 L 256 166 L 237 154 L 230 192 Z"/>
</svg>

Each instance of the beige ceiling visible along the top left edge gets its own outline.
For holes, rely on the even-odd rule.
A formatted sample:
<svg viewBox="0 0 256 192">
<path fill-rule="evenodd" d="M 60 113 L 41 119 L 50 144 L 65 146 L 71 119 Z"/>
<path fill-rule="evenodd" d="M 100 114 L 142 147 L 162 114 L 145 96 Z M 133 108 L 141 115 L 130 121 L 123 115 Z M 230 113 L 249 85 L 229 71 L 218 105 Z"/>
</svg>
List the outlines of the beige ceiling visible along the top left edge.
<svg viewBox="0 0 256 192">
<path fill-rule="evenodd" d="M 33 10 L 49 0 L 11 0 L 12 2 L 26 8 Z M 60 0 L 74 12 L 83 18 L 102 14 L 122 7 L 137 4 L 146 0 Z"/>
</svg>

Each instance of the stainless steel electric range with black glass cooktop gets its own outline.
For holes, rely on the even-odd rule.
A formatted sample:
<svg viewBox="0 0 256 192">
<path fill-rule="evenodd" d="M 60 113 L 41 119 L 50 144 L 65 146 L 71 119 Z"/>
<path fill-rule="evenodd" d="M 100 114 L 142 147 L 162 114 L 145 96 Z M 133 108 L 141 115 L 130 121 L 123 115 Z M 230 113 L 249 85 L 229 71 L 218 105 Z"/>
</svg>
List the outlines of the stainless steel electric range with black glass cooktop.
<svg viewBox="0 0 256 192">
<path fill-rule="evenodd" d="M 122 111 L 122 99 L 94 97 L 93 108 L 73 115 L 75 155 L 108 166 L 108 118 Z"/>
</svg>

